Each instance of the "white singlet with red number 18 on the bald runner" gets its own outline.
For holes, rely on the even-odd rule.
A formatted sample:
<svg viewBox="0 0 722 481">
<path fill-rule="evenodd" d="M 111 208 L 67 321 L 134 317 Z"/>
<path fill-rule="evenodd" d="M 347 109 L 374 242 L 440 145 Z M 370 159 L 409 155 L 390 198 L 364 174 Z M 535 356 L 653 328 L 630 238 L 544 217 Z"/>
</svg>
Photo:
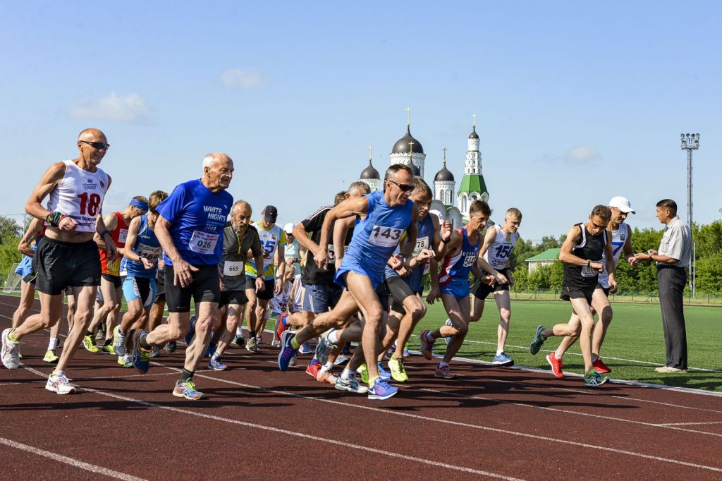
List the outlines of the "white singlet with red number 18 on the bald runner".
<svg viewBox="0 0 722 481">
<path fill-rule="evenodd" d="M 65 175 L 48 196 L 48 210 L 74 219 L 76 232 L 95 232 L 95 219 L 108 190 L 108 174 L 100 168 L 95 172 L 82 170 L 72 160 L 63 163 Z"/>
</svg>

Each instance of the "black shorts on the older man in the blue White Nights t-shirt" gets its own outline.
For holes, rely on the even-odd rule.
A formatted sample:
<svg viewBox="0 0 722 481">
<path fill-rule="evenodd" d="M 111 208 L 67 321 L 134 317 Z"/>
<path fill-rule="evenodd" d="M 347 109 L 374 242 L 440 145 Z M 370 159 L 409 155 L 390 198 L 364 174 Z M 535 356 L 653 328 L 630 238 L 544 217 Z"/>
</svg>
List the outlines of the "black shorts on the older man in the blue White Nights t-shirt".
<svg viewBox="0 0 722 481">
<path fill-rule="evenodd" d="M 190 312 L 191 296 L 198 303 L 219 303 L 221 287 L 218 280 L 218 267 L 193 266 L 198 268 L 191 272 L 193 281 L 188 287 L 173 284 L 173 266 L 165 266 L 165 300 L 168 312 Z"/>
</svg>

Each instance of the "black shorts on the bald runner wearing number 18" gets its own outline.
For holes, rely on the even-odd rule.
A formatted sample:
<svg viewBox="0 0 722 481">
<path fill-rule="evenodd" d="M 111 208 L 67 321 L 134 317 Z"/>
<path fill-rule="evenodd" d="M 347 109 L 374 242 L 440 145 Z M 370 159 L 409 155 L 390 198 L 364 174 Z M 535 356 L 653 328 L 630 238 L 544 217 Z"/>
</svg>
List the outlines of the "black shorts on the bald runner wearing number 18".
<svg viewBox="0 0 722 481">
<path fill-rule="evenodd" d="M 38 242 L 32 257 L 35 288 L 43 294 L 61 295 L 66 287 L 100 285 L 100 254 L 93 241 L 71 243 L 47 236 Z"/>
</svg>

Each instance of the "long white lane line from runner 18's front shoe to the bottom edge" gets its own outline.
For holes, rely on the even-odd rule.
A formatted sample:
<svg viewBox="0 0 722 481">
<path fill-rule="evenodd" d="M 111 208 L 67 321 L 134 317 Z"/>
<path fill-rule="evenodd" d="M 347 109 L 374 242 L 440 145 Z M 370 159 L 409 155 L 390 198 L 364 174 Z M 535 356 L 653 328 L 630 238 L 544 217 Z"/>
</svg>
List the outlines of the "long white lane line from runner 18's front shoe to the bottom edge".
<svg viewBox="0 0 722 481">
<path fill-rule="evenodd" d="M 45 375 L 44 375 L 43 373 L 41 373 L 40 371 L 35 371 L 35 369 L 33 369 L 33 368 L 28 368 L 28 367 L 25 366 L 25 365 L 23 366 L 23 368 L 27 369 L 28 371 L 30 371 L 30 372 L 32 372 L 32 373 L 35 373 L 36 375 L 45 376 Z M 170 368 L 169 368 L 169 369 L 170 369 Z M 196 376 L 198 376 L 198 375 L 196 375 Z M 199 377 L 208 377 L 208 376 L 199 376 Z M 110 397 L 110 398 L 113 398 L 113 399 L 120 399 L 121 401 L 134 402 L 134 403 L 136 403 L 136 404 L 142 404 L 142 405 L 148 406 L 148 407 L 155 407 L 155 408 L 161 409 L 161 410 L 167 410 L 167 411 L 171 411 L 171 412 L 180 412 L 180 413 L 183 413 L 183 414 L 186 414 L 186 415 L 191 415 L 191 416 L 196 416 L 196 417 L 204 417 L 205 419 L 210 419 L 210 420 L 214 420 L 214 421 L 221 421 L 221 422 L 223 422 L 223 423 L 230 423 L 230 424 L 235 424 L 235 425 L 242 425 L 242 426 L 246 426 L 246 427 L 248 427 L 248 428 L 256 428 L 256 429 L 271 431 L 271 432 L 273 432 L 273 433 L 284 434 L 284 435 L 287 435 L 287 436 L 295 436 L 295 437 L 297 437 L 297 438 L 309 439 L 309 440 L 311 440 L 311 441 L 319 441 L 319 442 L 322 442 L 322 443 L 334 444 L 334 445 L 336 445 L 336 446 L 344 446 L 344 447 L 350 448 L 350 449 L 358 449 L 358 450 L 360 450 L 360 451 L 367 451 L 367 452 L 370 452 L 370 453 L 381 454 L 381 455 L 383 455 L 383 456 L 389 456 L 389 457 L 397 458 L 397 459 L 404 459 L 404 460 L 406 460 L 406 461 L 412 461 L 412 462 L 419 462 L 419 463 L 423 463 L 423 464 L 429 464 L 430 466 L 443 467 L 443 468 L 445 468 L 445 469 L 452 469 L 452 470 L 454 470 L 454 471 L 459 471 L 459 472 L 468 472 L 468 473 L 471 473 L 471 474 L 473 474 L 473 475 L 482 475 L 482 476 L 488 476 L 488 477 L 495 477 L 495 478 L 498 478 L 498 479 L 501 479 L 501 480 L 522 481 L 521 478 L 504 476 L 504 475 L 497 474 L 497 473 L 495 473 L 495 472 L 488 472 L 488 471 L 482 471 L 482 470 L 480 470 L 480 469 L 473 469 L 473 468 L 468 468 L 468 467 L 463 467 L 463 466 L 456 466 L 456 465 L 454 465 L 454 464 L 447 464 L 447 463 L 443 463 L 443 462 L 432 461 L 431 459 L 417 458 L 416 456 L 408 456 L 408 455 L 406 455 L 406 454 L 395 453 L 395 452 L 393 452 L 393 451 L 386 451 L 386 450 L 383 450 L 383 449 L 375 449 L 375 448 L 371 448 L 371 447 L 369 447 L 369 446 L 361 446 L 360 444 L 347 443 L 347 442 L 344 442 L 344 441 L 337 441 L 337 440 L 335 440 L 335 439 L 321 438 L 321 437 L 319 437 L 319 436 L 312 436 L 312 435 L 310 435 L 310 434 L 298 433 L 298 432 L 296 432 L 296 431 L 291 431 L 291 430 L 286 430 L 286 429 L 280 429 L 280 428 L 274 428 L 273 426 L 266 426 L 266 425 L 256 424 L 256 423 L 245 423 L 244 421 L 239 421 L 239 420 L 235 420 L 235 419 L 230 419 L 230 418 L 227 418 L 227 417 L 221 417 L 221 416 L 215 416 L 215 415 L 205 414 L 205 413 L 203 413 L 203 412 L 196 412 L 196 411 L 191 411 L 191 410 L 185 410 L 185 409 L 182 409 L 182 408 L 180 408 L 180 407 L 163 406 L 163 405 L 161 405 L 161 404 L 155 404 L 154 402 L 142 401 L 141 399 L 134 399 L 134 398 L 131 398 L 131 397 L 125 397 L 125 396 L 120 396 L 120 395 L 118 395 L 118 394 L 113 394 L 113 393 L 109 393 L 109 392 L 105 392 L 105 391 L 100 391 L 99 389 L 83 388 L 83 387 L 79 387 L 78 389 L 80 389 L 80 390 L 82 390 L 82 391 L 89 391 L 89 392 L 92 392 L 92 393 L 95 393 L 95 394 L 100 394 L 100 395 L 102 395 L 102 396 Z M 256 388 L 256 389 L 262 389 L 262 388 Z M 28 446 L 28 447 L 29 447 L 29 446 Z M 85 464 L 85 463 L 83 463 L 83 464 Z M 90 465 L 88 465 L 88 466 L 90 466 Z M 100 469 L 103 469 L 103 468 L 100 468 Z M 122 473 L 118 473 L 118 474 L 122 475 Z M 133 478 L 121 478 L 121 479 L 133 479 L 133 480 L 136 480 L 136 479 L 139 479 L 139 478 L 134 478 L 134 477 L 133 477 Z"/>
</svg>

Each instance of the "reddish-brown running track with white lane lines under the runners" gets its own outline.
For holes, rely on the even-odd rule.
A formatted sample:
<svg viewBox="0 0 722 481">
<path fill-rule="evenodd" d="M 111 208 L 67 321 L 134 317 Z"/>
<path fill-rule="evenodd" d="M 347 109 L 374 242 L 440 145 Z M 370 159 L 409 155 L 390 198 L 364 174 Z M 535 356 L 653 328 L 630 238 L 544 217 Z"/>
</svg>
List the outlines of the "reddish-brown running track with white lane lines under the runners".
<svg viewBox="0 0 722 481">
<path fill-rule="evenodd" d="M 16 305 L 0 296 L 0 329 Z M 412 381 L 372 402 L 281 373 L 262 345 L 232 348 L 229 371 L 198 371 L 199 402 L 170 394 L 182 348 L 141 375 L 81 347 L 69 370 L 81 388 L 61 397 L 44 389 L 47 342 L 32 335 L 23 368 L 0 367 L 0 479 L 722 477 L 715 395 L 464 362 L 443 381 L 412 356 Z"/>
</svg>

